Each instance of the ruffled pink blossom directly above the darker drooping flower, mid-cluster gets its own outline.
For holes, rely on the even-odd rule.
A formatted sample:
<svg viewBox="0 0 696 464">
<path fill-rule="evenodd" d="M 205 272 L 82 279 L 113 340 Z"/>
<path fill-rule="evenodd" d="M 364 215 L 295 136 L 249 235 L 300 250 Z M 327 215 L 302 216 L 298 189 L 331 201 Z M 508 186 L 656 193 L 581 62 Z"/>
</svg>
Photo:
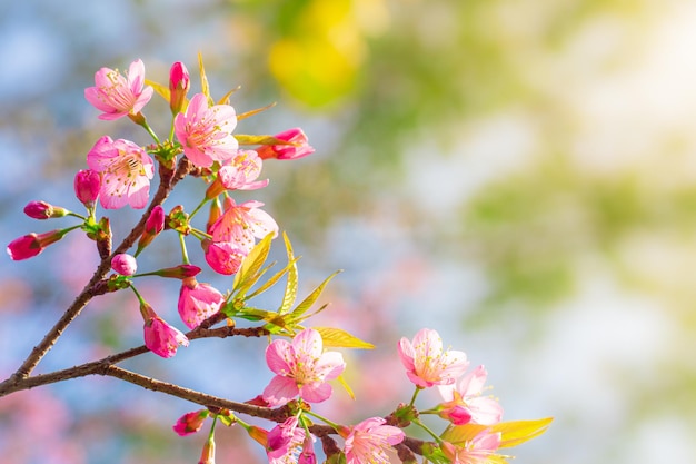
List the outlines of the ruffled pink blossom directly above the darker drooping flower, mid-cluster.
<svg viewBox="0 0 696 464">
<path fill-rule="evenodd" d="M 230 241 L 247 253 L 253 248 L 255 237 L 278 235 L 278 225 L 270 215 L 259 209 L 261 201 L 245 201 L 237 205 L 232 198 L 225 199 L 225 213 L 210 226 L 213 241 Z"/>
</svg>

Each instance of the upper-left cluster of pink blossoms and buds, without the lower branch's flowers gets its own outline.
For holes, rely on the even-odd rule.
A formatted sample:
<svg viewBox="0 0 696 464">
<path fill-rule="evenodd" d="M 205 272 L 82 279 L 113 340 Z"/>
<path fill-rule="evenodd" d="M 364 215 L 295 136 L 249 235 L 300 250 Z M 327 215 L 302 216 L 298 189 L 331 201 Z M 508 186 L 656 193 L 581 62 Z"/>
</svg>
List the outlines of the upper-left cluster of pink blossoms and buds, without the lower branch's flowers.
<svg viewBox="0 0 696 464">
<path fill-rule="evenodd" d="M 236 274 L 243 258 L 251 251 L 256 240 L 267 235 L 276 236 L 278 225 L 261 209 L 262 203 L 249 200 L 237 204 L 230 196 L 233 190 L 255 190 L 266 187 L 268 180 L 259 180 L 262 159 L 296 159 L 314 151 L 305 132 L 299 128 L 289 129 L 277 136 L 239 136 L 242 140 L 258 140 L 257 147 L 240 148 L 236 135 L 238 116 L 227 101 L 212 102 L 207 89 L 193 95 L 190 100 L 190 77 L 181 62 L 175 62 L 170 70 L 168 92 L 161 86 L 158 92 L 169 99 L 172 112 L 172 135 L 160 140 L 148 125 L 143 111 L 155 93 L 155 88 L 146 85 L 145 63 L 133 61 L 128 72 L 101 68 L 95 75 L 95 86 L 84 90 L 84 98 L 101 113 L 99 119 L 116 120 L 130 118 L 142 126 L 155 140 L 153 145 L 140 146 L 131 140 L 99 138 L 87 152 L 88 169 L 74 176 L 74 194 L 86 207 L 87 215 L 50 205 L 46 201 L 30 201 L 24 213 L 36 219 L 76 217 L 81 224 L 44 234 L 29 234 L 8 245 L 8 254 L 14 260 L 31 258 L 42 253 L 49 245 L 60 240 L 71 230 L 81 228 L 97 241 L 100 255 L 110 257 L 111 268 L 117 278 L 110 282 L 110 289 L 130 287 L 139 299 L 143 318 L 146 346 L 155 354 L 171 357 L 188 338 L 169 325 L 138 294 L 132 277 L 159 275 L 181 279 L 178 309 L 182 323 L 190 329 L 198 327 L 208 317 L 220 310 L 226 299 L 218 289 L 196 280 L 200 268 L 188 261 L 186 244 L 182 244 L 183 263 L 188 266 L 179 272 L 150 272 L 136 274 L 137 256 L 165 229 L 173 229 L 181 237 L 195 237 L 205 250 L 209 267 L 223 275 Z M 205 78 L 201 69 L 201 78 Z M 247 144 L 248 145 L 248 144 Z M 260 154 L 259 154 L 260 152 Z M 111 229 L 109 218 L 96 219 L 97 204 L 102 208 L 119 209 L 126 206 L 141 209 L 152 199 L 150 182 L 155 177 L 156 165 L 170 168 L 177 160 L 189 164 L 189 171 L 198 169 L 199 177 L 208 184 L 206 196 L 192 213 L 176 206 L 168 215 L 160 203 L 152 204 L 135 254 L 111 254 Z M 182 165 L 186 166 L 186 165 Z M 222 209 L 216 209 L 222 197 Z M 205 203 L 212 203 L 207 225 L 197 229 L 191 218 Z"/>
</svg>

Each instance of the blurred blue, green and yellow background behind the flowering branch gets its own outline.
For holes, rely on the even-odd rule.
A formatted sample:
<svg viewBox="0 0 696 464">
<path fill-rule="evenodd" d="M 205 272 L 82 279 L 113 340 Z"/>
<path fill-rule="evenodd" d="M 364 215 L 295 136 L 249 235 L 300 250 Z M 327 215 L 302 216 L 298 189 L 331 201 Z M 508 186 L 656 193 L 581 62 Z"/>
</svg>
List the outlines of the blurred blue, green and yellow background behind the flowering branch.
<svg viewBox="0 0 696 464">
<path fill-rule="evenodd" d="M 317 149 L 266 162 L 270 186 L 240 197 L 265 201 L 302 255 L 300 294 L 344 269 L 315 324 L 378 346 L 345 353 L 357 399 L 338 387 L 320 412 L 349 423 L 408 401 L 396 343 L 431 327 L 486 365 L 505 419 L 555 417 L 511 450 L 516 463 L 696 462 L 694 23 L 688 0 L 6 1 L 0 241 L 72 224 L 21 210 L 42 199 L 80 211 L 72 178 L 100 136 L 149 142 L 83 99 L 100 67 L 140 58 L 167 82 L 177 60 L 197 75 L 200 51 L 213 97 L 240 85 L 238 112 L 278 102 L 238 132 L 301 126 Z M 156 100 L 145 112 L 166 134 Z M 190 210 L 201 192 L 185 181 L 166 209 Z M 117 240 L 139 217 L 110 215 Z M 139 270 L 180 260 L 173 235 L 142 256 Z M 79 233 L 4 258 L 2 378 L 96 263 Z M 178 283 L 138 288 L 178 324 Z M 139 345 L 137 300 L 100 297 L 64 335 L 37 372 Z M 245 401 L 270 379 L 261 347 L 196 340 L 123 365 Z M 195 408 L 110 378 L 12 394 L 0 398 L 0 461 L 196 462 L 205 433 L 171 432 Z M 265 462 L 222 428 L 218 463 Z"/>
</svg>

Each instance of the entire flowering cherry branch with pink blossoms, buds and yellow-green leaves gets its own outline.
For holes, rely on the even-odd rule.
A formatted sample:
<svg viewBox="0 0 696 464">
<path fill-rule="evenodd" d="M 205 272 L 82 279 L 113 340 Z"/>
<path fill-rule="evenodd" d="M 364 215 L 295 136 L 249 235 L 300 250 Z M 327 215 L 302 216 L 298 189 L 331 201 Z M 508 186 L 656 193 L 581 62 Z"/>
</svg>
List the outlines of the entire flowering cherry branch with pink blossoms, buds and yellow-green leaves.
<svg viewBox="0 0 696 464">
<path fill-rule="evenodd" d="M 30 357 L 26 366 L 13 375 L 12 385 L 27 379 L 41 356 L 77 317 L 81 309 L 79 304 L 109 292 L 130 289 L 142 316 L 147 349 L 130 349 L 97 363 L 77 366 L 74 371 L 79 374 L 76 376 L 87 375 L 86 372 L 112 375 L 151 389 L 160 388 L 173 395 L 179 393 L 179 396 L 203 405 L 203 408 L 182 415 L 173 425 L 178 435 L 186 436 L 200 431 L 203 423 L 211 419 L 199 463 L 215 463 L 215 427 L 218 423 L 227 426 L 239 424 L 264 446 L 270 464 L 316 464 L 317 441 L 321 442 L 328 463 L 386 464 L 394 462 L 396 456 L 401 462 L 412 463 L 416 462 L 416 454 L 421 455 L 424 462 L 434 463 L 504 463 L 506 456 L 499 454 L 499 448 L 517 445 L 543 433 L 550 422 L 548 418 L 501 423 L 503 408 L 498 401 L 484 394 L 488 375 L 486 368 L 481 365 L 469 371 L 466 354 L 445 349 L 439 334 L 428 328 L 419 330 L 412 339 L 401 338 L 397 344 L 395 363 L 398 364 L 398 355 L 406 377 L 415 385 L 410 403 L 398 403 L 390 414 L 368 417 L 354 425 L 342 425 L 312 411 L 314 404 L 326 402 L 334 395 L 336 383 L 352 395 L 342 378 L 347 369 L 344 355 L 328 348 L 371 348 L 372 345 L 340 328 L 305 326 L 314 315 L 308 309 L 336 274 L 296 304 L 297 258 L 286 235 L 282 239 L 288 264 L 265 282 L 260 280 L 272 267 L 266 264 L 266 259 L 279 228 L 262 209 L 262 203 L 238 203 L 233 195 L 236 190 L 253 191 L 269 185 L 268 179 L 261 179 L 265 160 L 298 159 L 314 152 L 314 148 L 300 128 L 275 136 L 237 134 L 240 120 L 262 109 L 238 113 L 229 103 L 229 93 L 215 101 L 202 62 L 200 73 L 201 91 L 190 99 L 191 80 L 181 62 L 171 66 L 168 86 L 146 80 L 145 65 L 136 60 L 126 75 L 101 68 L 95 75 L 95 86 L 84 90 L 87 101 L 100 111 L 99 119 L 127 117 L 141 126 L 152 137 L 153 144 L 141 146 L 108 135 L 93 144 L 86 155 L 87 169 L 79 170 L 73 180 L 74 195 L 86 213 L 73 213 L 47 201 L 30 201 L 24 207 L 27 216 L 38 220 L 68 217 L 77 219 L 78 224 L 42 234 L 28 234 L 11 241 L 7 247 L 11 259 L 37 256 L 68 233 L 81 229 L 96 243 L 101 263 L 82 297 L 76 298 L 77 303 L 68 308 L 66 314 L 70 317 L 62 317 L 52 329 L 58 335 L 53 339 L 44 338 L 44 345 L 32 352 L 30 356 L 38 353 L 37 357 Z M 155 92 L 169 102 L 171 126 L 167 139 L 157 136 L 143 113 Z M 150 182 L 156 176 L 159 176 L 159 181 L 157 192 L 152 195 Z M 165 199 L 176 182 L 186 176 L 205 182 L 205 189 L 200 190 L 205 194 L 193 208 L 176 205 L 167 213 Z M 201 220 L 203 226 L 197 226 L 193 219 L 208 204 L 209 213 Z M 127 206 L 145 211 L 131 234 L 112 249 L 111 218 L 97 218 L 97 214 L 99 208 L 112 213 Z M 166 231 L 177 235 L 181 261 L 161 269 L 140 270 L 138 257 Z M 197 241 L 202 247 L 209 272 L 235 276 L 230 289 L 221 292 L 211 284 L 198 280 L 202 269 L 190 263 L 187 240 Z M 147 276 L 180 282 L 177 310 L 181 324 L 190 332 L 185 334 L 167 323 L 140 295 L 136 279 Z M 284 278 L 286 289 L 277 309 L 266 310 L 248 304 L 250 298 Z M 251 326 L 238 328 L 237 320 L 251 322 Z M 218 324 L 223 326 L 216 327 Z M 113 366 L 118 361 L 147 351 L 170 358 L 179 347 L 189 346 L 196 338 L 235 335 L 269 340 L 266 364 L 272 375 L 262 392 L 246 403 L 197 395 L 197 392 L 172 384 L 162 387 L 163 382 L 152 382 Z M 61 375 L 61 378 L 70 378 L 64 376 L 64 372 Z M 439 392 L 441 401 L 432 407 L 418 409 L 418 394 L 432 387 Z M 237 414 L 266 418 L 275 425 L 264 428 L 248 424 Z M 444 432 L 438 434 L 424 424 L 420 417 L 425 414 L 444 419 Z M 432 441 L 407 436 L 411 425 L 427 433 Z M 339 444 L 341 440 L 342 444 Z"/>
</svg>

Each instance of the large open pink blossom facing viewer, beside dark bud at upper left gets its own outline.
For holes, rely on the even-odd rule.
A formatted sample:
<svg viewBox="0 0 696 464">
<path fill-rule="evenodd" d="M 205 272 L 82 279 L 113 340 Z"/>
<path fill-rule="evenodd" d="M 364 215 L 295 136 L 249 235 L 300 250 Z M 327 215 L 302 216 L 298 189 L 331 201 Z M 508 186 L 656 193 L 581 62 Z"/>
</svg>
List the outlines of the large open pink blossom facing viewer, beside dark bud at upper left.
<svg viewBox="0 0 696 464">
<path fill-rule="evenodd" d="M 126 205 L 133 208 L 147 205 L 155 166 L 141 147 L 129 140 L 111 140 L 103 136 L 87 154 L 87 164 L 90 169 L 101 172 L 101 206 L 116 209 Z"/>
</svg>

